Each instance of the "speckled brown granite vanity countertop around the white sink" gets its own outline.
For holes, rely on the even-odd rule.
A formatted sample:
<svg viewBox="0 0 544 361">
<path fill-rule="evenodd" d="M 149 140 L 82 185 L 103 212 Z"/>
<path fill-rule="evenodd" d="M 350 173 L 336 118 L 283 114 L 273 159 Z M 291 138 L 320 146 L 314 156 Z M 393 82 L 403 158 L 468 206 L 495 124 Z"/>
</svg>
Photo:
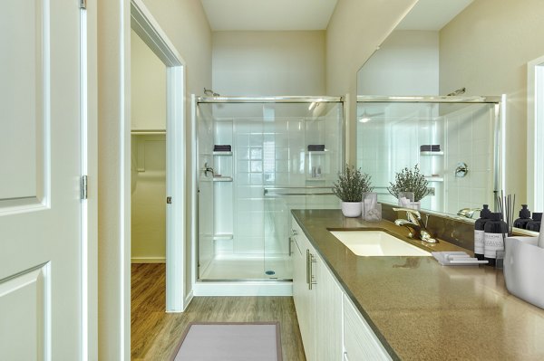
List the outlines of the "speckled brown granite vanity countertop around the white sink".
<svg viewBox="0 0 544 361">
<path fill-rule="evenodd" d="M 544 309 L 510 295 L 502 271 L 441 266 L 433 257 L 356 256 L 328 231 L 380 228 L 430 252 L 467 250 L 443 241 L 426 247 L 394 223 L 339 210 L 292 214 L 393 359 L 544 360 Z"/>
</svg>

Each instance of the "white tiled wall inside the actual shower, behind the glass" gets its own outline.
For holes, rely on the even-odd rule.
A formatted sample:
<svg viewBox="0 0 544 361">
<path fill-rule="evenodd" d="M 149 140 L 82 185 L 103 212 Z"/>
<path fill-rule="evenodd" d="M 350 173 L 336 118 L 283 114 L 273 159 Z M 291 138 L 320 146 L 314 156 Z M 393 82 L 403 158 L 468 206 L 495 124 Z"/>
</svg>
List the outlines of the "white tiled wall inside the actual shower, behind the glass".
<svg viewBox="0 0 544 361">
<path fill-rule="evenodd" d="M 316 191 L 330 192 L 341 166 L 338 116 L 216 119 L 215 143 L 233 149 L 231 157 L 214 157 L 217 173 L 233 178 L 214 185 L 216 256 L 287 254 L 290 208 L 338 207 L 331 195 L 265 196 L 265 188 L 276 187 L 328 185 Z M 307 144 L 325 144 L 327 151 L 310 155 Z M 311 178 L 310 157 L 322 166 L 319 179 Z"/>
</svg>

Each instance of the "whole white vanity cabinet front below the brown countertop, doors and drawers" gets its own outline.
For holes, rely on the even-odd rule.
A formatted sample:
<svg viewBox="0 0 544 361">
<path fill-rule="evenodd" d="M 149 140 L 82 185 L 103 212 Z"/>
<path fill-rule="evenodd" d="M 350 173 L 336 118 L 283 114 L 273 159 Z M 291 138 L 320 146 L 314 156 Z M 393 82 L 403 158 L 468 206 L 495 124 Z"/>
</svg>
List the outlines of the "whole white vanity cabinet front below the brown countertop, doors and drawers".
<svg viewBox="0 0 544 361">
<path fill-rule="evenodd" d="M 308 361 L 391 360 L 292 218 L 293 299 Z"/>
</svg>

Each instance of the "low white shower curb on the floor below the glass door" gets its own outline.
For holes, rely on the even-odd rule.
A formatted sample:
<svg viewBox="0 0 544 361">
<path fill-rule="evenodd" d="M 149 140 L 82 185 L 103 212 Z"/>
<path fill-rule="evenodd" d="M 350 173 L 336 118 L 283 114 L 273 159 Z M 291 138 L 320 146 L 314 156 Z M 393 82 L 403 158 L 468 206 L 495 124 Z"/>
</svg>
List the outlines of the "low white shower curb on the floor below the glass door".
<svg viewBox="0 0 544 361">
<path fill-rule="evenodd" d="M 291 281 L 196 282 L 194 296 L 293 296 Z"/>
</svg>

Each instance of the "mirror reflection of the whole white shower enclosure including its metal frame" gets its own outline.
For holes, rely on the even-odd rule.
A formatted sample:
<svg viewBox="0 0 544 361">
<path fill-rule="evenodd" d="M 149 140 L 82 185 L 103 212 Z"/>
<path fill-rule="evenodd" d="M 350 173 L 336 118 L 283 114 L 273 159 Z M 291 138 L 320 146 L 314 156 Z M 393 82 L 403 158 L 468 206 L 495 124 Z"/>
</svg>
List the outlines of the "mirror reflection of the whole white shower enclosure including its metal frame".
<svg viewBox="0 0 544 361">
<path fill-rule="evenodd" d="M 457 214 L 494 204 L 500 189 L 500 97 L 359 96 L 357 166 L 381 202 L 395 173 L 418 165 L 432 189 L 422 208 Z M 463 170 L 464 169 L 464 170 Z"/>
</svg>

